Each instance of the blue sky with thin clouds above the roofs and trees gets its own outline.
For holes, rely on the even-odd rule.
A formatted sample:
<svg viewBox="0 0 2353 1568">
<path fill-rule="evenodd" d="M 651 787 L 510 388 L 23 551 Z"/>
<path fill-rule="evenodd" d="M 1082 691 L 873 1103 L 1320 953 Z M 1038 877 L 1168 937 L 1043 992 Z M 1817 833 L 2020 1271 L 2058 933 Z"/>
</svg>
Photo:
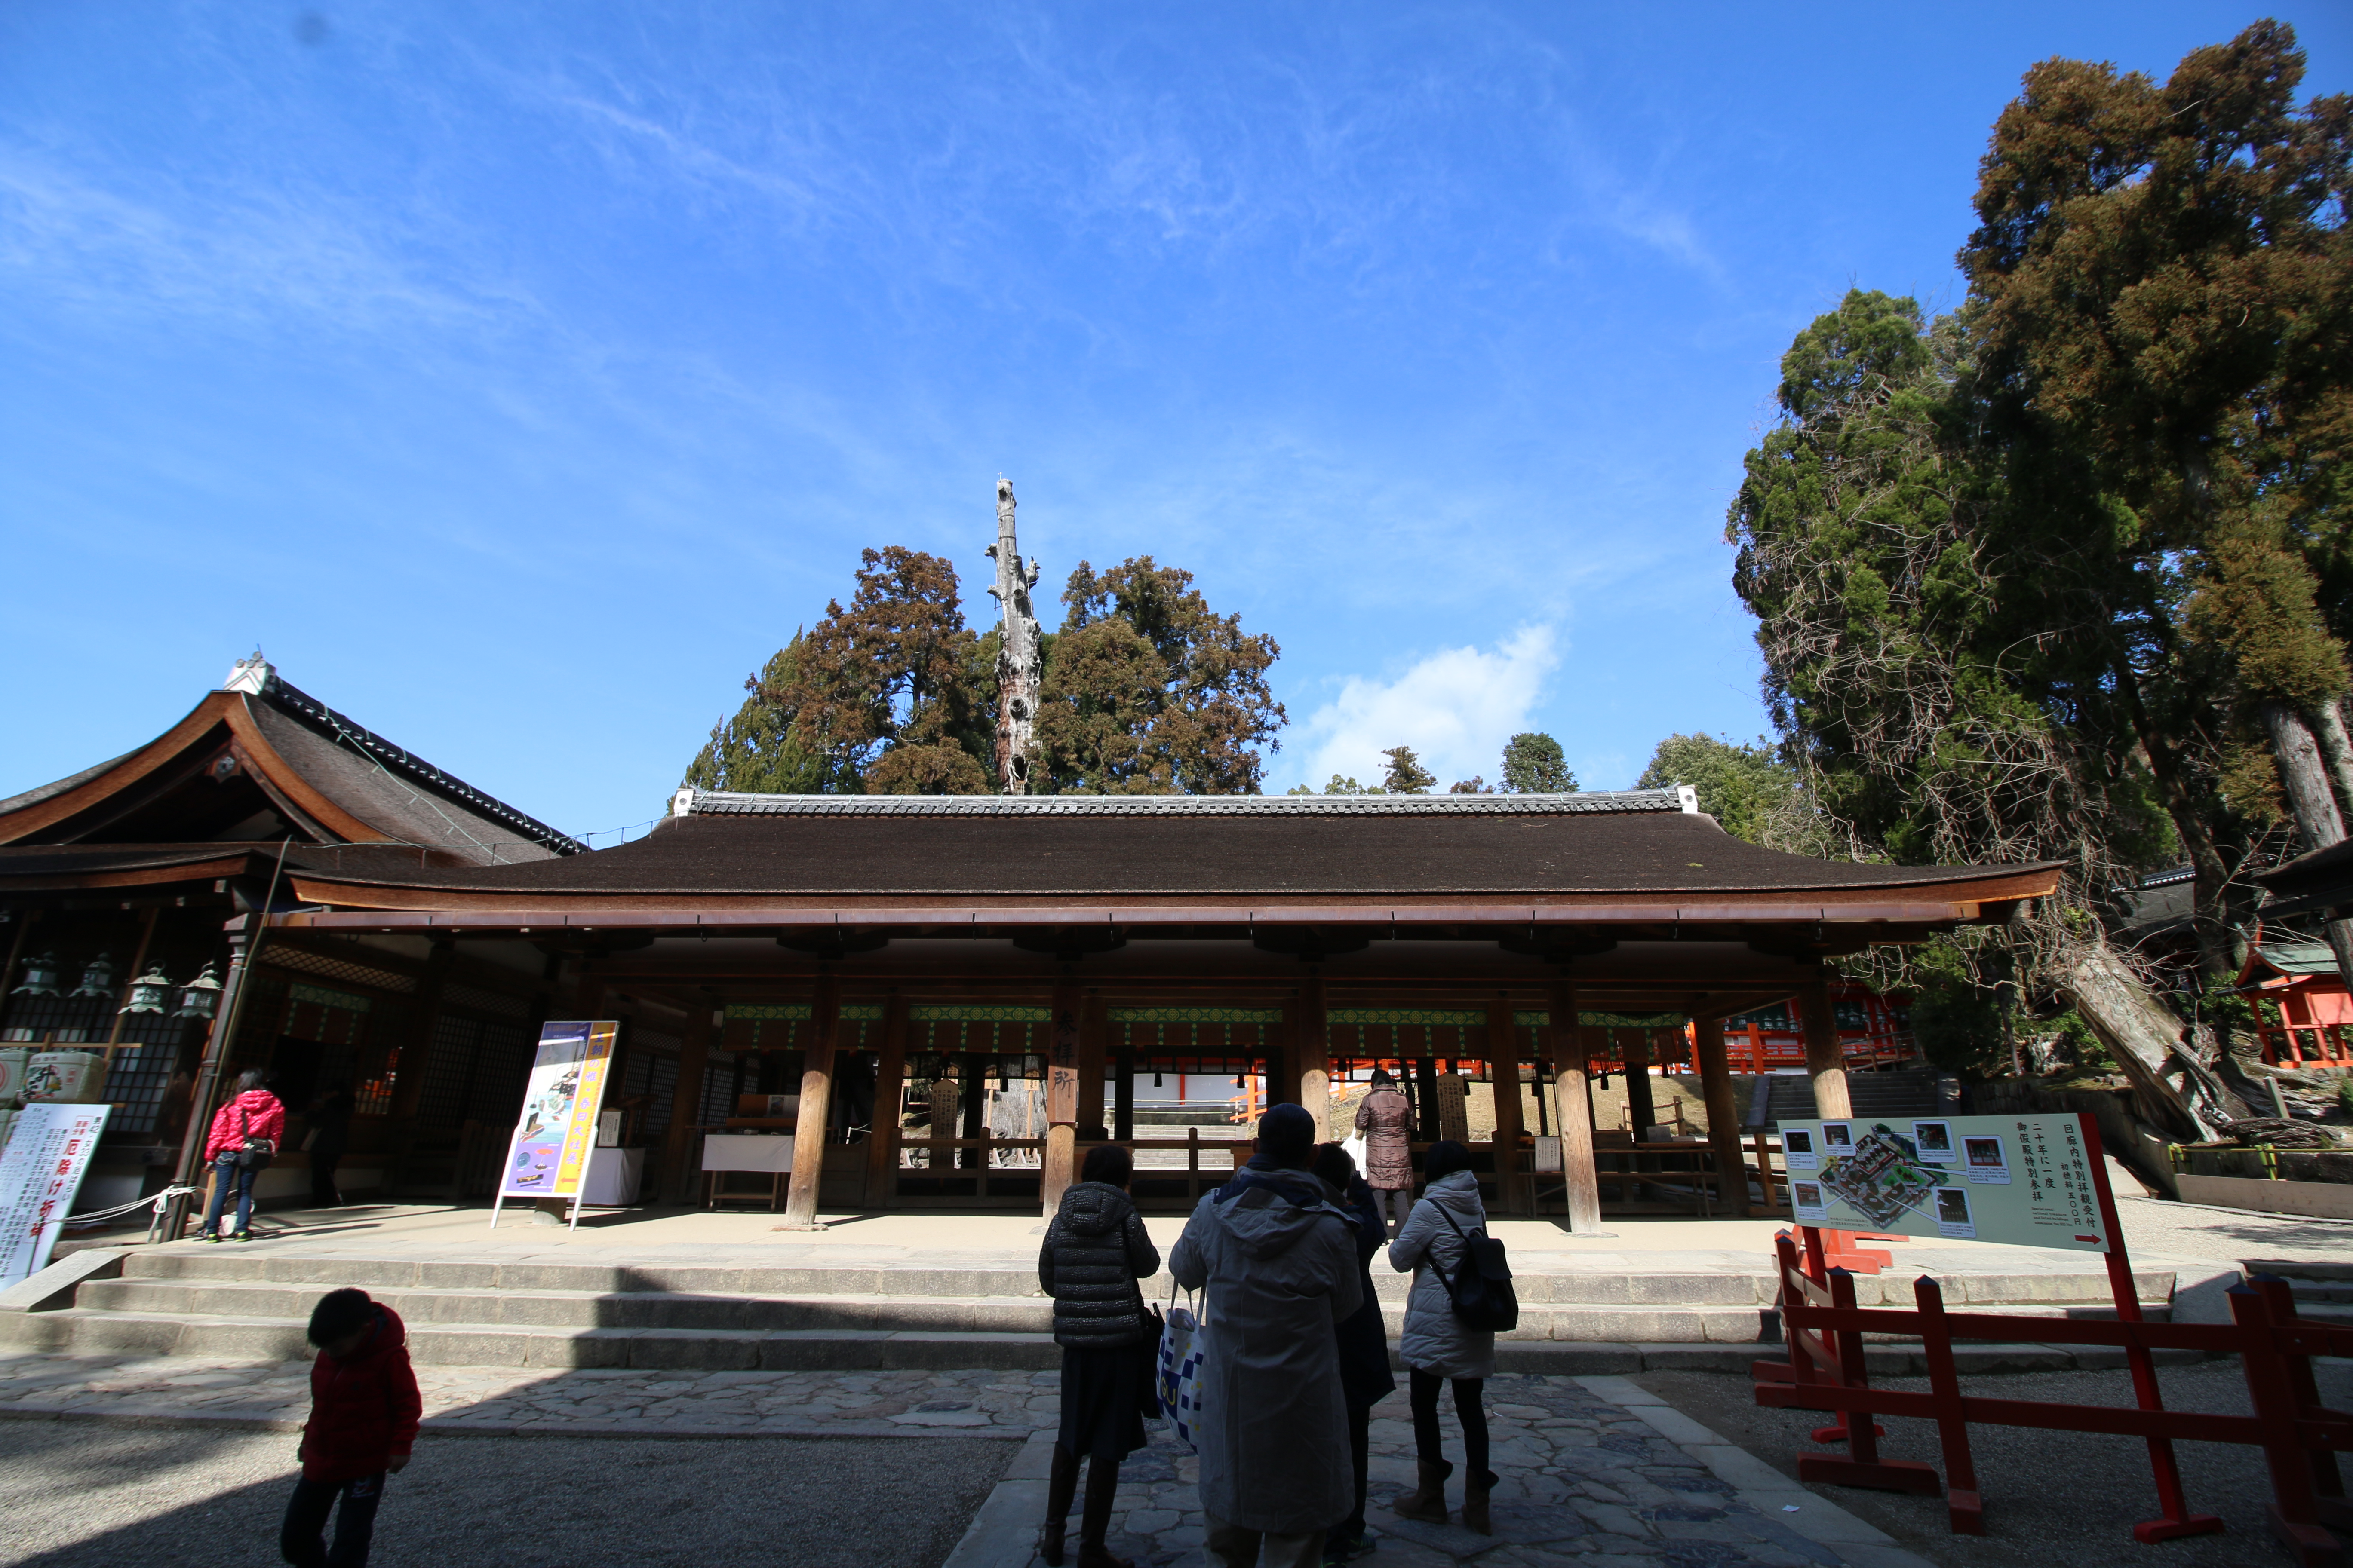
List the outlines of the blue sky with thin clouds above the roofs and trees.
<svg viewBox="0 0 2353 1568">
<path fill-rule="evenodd" d="M 1725 503 L 1791 334 L 1960 296 L 2049 54 L 2287 5 L 0 7 L 0 795 L 264 646 L 572 832 L 861 545 L 1151 552 L 1271 788 L 1755 736 Z"/>
</svg>

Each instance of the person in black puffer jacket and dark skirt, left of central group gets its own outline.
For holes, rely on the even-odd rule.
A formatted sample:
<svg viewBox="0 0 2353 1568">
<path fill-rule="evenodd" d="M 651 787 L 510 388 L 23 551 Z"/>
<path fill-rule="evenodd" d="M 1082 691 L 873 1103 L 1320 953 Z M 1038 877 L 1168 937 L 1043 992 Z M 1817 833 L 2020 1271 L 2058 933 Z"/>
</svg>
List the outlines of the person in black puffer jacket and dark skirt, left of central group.
<svg viewBox="0 0 2353 1568">
<path fill-rule="evenodd" d="M 1078 1462 L 1087 1465 L 1087 1512 L 1078 1528 L 1078 1568 L 1134 1568 L 1104 1549 L 1120 1460 L 1144 1446 L 1144 1295 L 1136 1281 L 1160 1272 L 1160 1248 L 1127 1197 L 1134 1157 L 1115 1143 L 1087 1150 L 1080 1180 L 1061 1194 L 1038 1248 L 1038 1286 L 1054 1298 L 1061 1345 L 1061 1432 L 1047 1479 L 1038 1554 L 1061 1566 Z"/>
</svg>

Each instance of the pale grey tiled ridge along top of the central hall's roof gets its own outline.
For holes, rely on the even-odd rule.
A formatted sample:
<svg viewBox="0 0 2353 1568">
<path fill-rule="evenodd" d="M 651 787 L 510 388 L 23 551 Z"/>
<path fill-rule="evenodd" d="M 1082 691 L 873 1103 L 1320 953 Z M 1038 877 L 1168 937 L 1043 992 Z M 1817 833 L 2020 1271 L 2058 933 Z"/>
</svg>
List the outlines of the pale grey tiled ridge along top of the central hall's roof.
<svg viewBox="0 0 2353 1568">
<path fill-rule="evenodd" d="M 1572 795 L 739 795 L 680 790 L 682 816 L 1584 816 L 1692 811 L 1682 790 Z"/>
</svg>

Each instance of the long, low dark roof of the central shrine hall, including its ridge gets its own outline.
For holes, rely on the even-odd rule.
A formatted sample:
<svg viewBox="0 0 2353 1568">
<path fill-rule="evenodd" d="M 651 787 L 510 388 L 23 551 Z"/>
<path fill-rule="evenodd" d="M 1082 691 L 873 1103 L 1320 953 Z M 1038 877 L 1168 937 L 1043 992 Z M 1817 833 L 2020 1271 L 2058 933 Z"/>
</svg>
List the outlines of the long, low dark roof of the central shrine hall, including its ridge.
<svg viewBox="0 0 2353 1568">
<path fill-rule="evenodd" d="M 633 844 L 400 875 L 306 870 L 308 903 L 374 910 L 1082 905 L 1774 905 L 1824 919 L 1979 919 L 2052 865 L 1857 865 L 1734 839 L 1675 790 L 1421 797 L 720 797 Z M 315 865 L 315 863 L 313 863 Z M 1897 914 L 1897 910 L 1904 910 Z M 1805 912 L 1805 914 L 1800 914 Z M 2007 910 L 2005 910 L 2007 912 Z"/>
</svg>

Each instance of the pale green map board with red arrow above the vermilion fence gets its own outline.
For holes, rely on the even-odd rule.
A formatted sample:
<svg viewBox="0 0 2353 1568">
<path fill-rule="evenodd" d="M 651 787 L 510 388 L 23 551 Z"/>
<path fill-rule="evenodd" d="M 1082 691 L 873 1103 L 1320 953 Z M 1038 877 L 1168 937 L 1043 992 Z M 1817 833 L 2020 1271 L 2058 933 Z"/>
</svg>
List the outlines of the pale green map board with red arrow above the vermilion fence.
<svg viewBox="0 0 2353 1568">
<path fill-rule="evenodd" d="M 1784 1121 L 1798 1225 L 2108 1253 L 2099 1143 L 2073 1114 Z"/>
</svg>

